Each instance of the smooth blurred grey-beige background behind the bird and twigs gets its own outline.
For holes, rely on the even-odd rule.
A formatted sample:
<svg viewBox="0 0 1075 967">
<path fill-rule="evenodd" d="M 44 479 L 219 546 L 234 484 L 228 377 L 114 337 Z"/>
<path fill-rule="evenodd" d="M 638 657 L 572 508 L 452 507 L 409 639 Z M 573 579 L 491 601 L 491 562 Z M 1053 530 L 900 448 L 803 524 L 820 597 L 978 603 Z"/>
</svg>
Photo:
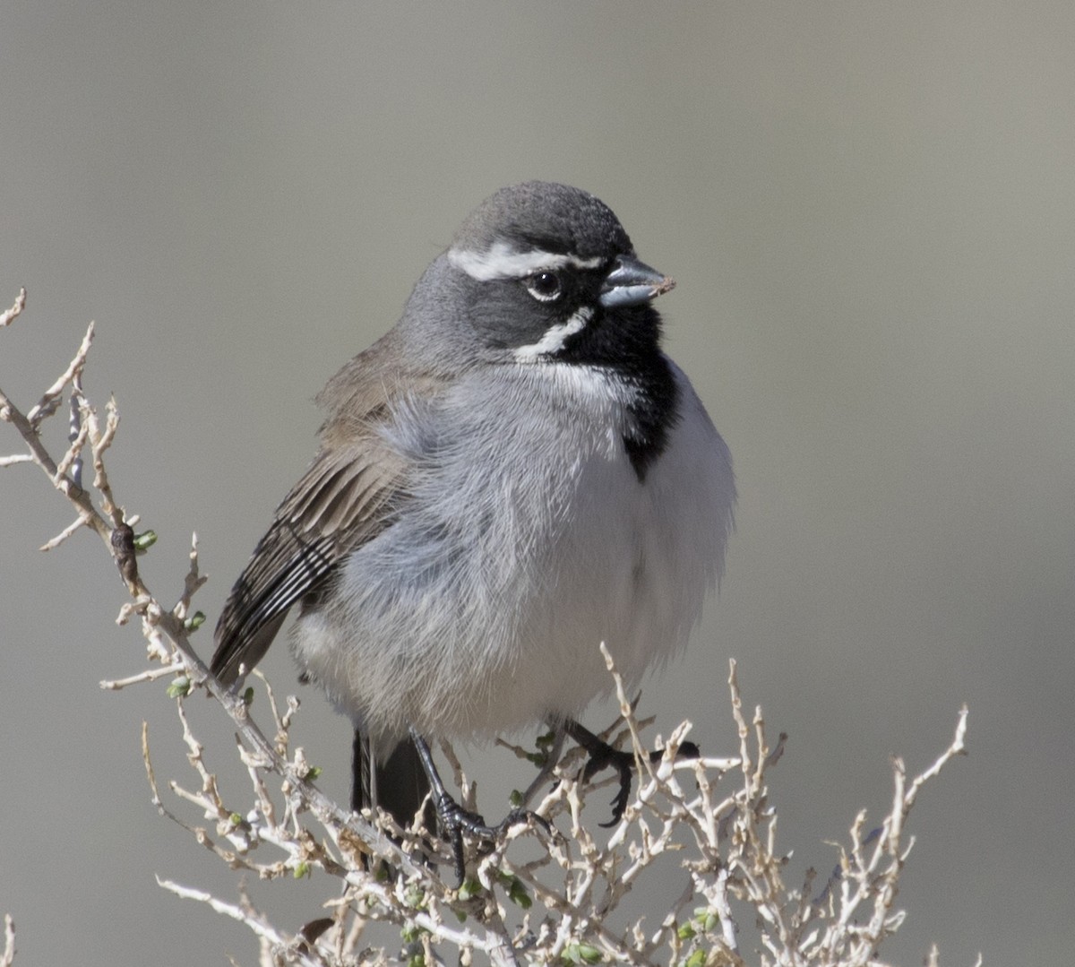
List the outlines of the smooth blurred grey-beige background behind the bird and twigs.
<svg viewBox="0 0 1075 967">
<path fill-rule="evenodd" d="M 747 702 L 790 734 L 772 795 L 797 883 L 831 869 L 859 808 L 887 808 L 890 756 L 928 766 L 968 702 L 970 755 L 913 814 L 908 920 L 882 952 L 1067 963 L 1073 98 L 1067 2 L 6 2 L 0 303 L 25 285 L 29 304 L 0 332 L 0 386 L 30 406 L 97 321 L 85 383 L 118 399 L 113 481 L 160 536 L 143 574 L 173 601 L 197 530 L 207 656 L 313 456 L 322 383 L 485 196 L 593 191 L 678 282 L 668 349 L 741 494 L 719 600 L 643 711 L 733 751 L 739 659 Z M 0 425 L 0 453 L 20 449 Z M 155 884 L 233 899 L 239 876 L 150 805 L 143 719 L 158 778 L 194 780 L 163 684 L 98 687 L 143 645 L 114 625 L 96 537 L 38 553 L 70 518 L 37 470 L 0 471 L 17 963 L 253 963 L 242 927 Z M 299 689 L 286 648 L 266 668 Z M 299 694 L 297 739 L 345 800 L 348 725 Z M 223 713 L 190 705 L 225 768 Z M 303 888 L 297 911 L 280 887 L 285 924 L 334 891 Z"/>
</svg>

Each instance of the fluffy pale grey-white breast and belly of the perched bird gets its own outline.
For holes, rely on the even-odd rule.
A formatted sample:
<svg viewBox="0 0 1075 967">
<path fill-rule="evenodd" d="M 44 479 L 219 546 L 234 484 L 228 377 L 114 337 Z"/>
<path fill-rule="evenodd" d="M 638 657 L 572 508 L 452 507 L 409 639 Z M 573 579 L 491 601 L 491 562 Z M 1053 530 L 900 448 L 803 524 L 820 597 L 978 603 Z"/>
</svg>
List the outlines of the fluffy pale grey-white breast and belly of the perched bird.
<svg viewBox="0 0 1075 967">
<path fill-rule="evenodd" d="M 636 680 L 686 642 L 719 574 L 731 467 L 686 378 L 676 370 L 680 418 L 640 482 L 615 396 L 567 368 L 571 393 L 545 400 L 549 367 L 531 369 L 499 387 L 494 406 L 515 418 L 494 427 L 461 393 L 401 520 L 297 624 L 300 664 L 383 744 L 408 724 L 471 737 L 577 716 L 612 686 L 599 644 Z M 427 430 L 398 445 L 420 457 Z"/>
</svg>

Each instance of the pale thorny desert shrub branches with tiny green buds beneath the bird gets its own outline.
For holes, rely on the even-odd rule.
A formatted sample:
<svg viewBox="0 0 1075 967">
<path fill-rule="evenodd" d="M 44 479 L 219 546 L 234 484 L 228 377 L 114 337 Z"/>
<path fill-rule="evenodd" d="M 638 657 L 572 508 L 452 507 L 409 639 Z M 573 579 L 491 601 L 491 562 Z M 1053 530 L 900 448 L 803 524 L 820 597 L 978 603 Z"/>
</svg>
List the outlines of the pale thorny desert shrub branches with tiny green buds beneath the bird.
<svg viewBox="0 0 1075 967">
<path fill-rule="evenodd" d="M 0 315 L 0 328 L 14 323 L 25 305 L 22 290 L 12 308 Z M 815 893 L 814 871 L 807 872 L 800 888 L 784 882 L 786 855 L 777 847 L 776 812 L 769 801 L 766 773 L 784 753 L 786 736 L 771 745 L 761 709 L 748 719 L 734 662 L 728 689 L 739 739 L 736 754 L 677 757 L 690 730 L 685 722 L 654 762 L 642 736 L 647 723 L 636 717 L 605 651 L 621 717 L 604 735 L 614 742 L 630 742 L 637 769 L 637 788 L 621 821 L 600 837 L 592 824 L 584 822 L 587 790 L 578 750 L 556 763 L 558 745 L 540 744 L 536 752 L 516 749 L 519 755 L 545 763 L 543 778 L 547 774 L 551 784 L 540 786 L 544 795 L 534 812 L 553 824 L 555 835 L 539 836 L 528 825 L 514 827 L 501 841 L 471 857 L 461 888 L 449 888 L 436 865 L 447 854 L 434 845 L 435 837 L 420 829 L 401 829 L 385 815 L 352 814 L 318 792 L 312 782 L 315 770 L 303 751 L 290 750 L 289 730 L 298 710 L 295 699 L 277 702 L 269 683 L 255 672 L 273 720 L 270 740 L 249 717 L 245 697 L 223 689 L 195 654 L 189 635 L 201 615 L 192 610 L 192 598 L 204 582 L 197 537 L 174 606 L 161 606 L 142 581 L 137 554 L 145 542 L 134 535 L 137 517 L 127 515 L 116 501 L 105 470 L 118 411 L 115 401 L 109 400 L 102 419 L 83 390 L 92 335 L 90 325 L 71 362 L 29 411 L 24 413 L 0 390 L 0 418 L 16 429 L 26 446 L 24 453 L 0 457 L 0 468 L 37 465 L 75 509 L 72 524 L 42 550 L 58 546 L 85 526 L 103 540 L 119 569 L 130 601 L 124 605 L 118 623 L 135 615 L 141 620 L 152 664 L 102 686 L 121 688 L 163 677 L 174 679 L 170 694 L 197 784 L 186 788 L 169 782 L 168 790 L 178 805 L 166 805 L 143 727 L 142 754 L 158 810 L 234 869 L 262 879 L 310 877 L 320 871 L 328 878 L 325 894 L 331 915 L 292 933 L 270 923 L 242 887 L 235 904 L 168 880 L 160 880 L 161 886 L 245 924 L 257 938 L 260 963 L 266 965 L 343 967 L 373 959 L 433 967 L 448 959 L 470 964 L 475 953 L 497 965 L 616 962 L 710 967 L 742 965 L 748 954 L 762 965 L 882 963 L 878 947 L 899 928 L 904 915 L 894 908 L 900 873 L 913 844 L 904 836 L 904 826 L 923 784 L 963 754 L 965 708 L 952 742 L 929 769 L 908 782 L 902 762 L 893 763 L 889 814 L 877 829 L 868 828 L 864 813 L 856 817 L 848 845 L 840 848 L 836 872 Z M 64 395 L 70 410 L 68 449 L 56 460 L 41 440 L 40 428 L 57 412 Z M 94 468 L 89 489 L 81 480 L 84 456 Z M 244 811 L 227 804 L 185 713 L 186 699 L 199 689 L 212 695 L 235 725 L 239 757 L 250 782 Z M 445 752 L 465 788 L 465 777 L 450 748 Z M 190 809 L 209 825 L 185 819 Z M 524 838 L 526 849 L 518 845 Z M 421 856 L 427 858 L 415 858 Z M 635 884 L 655 876 L 676 884 L 664 891 L 672 898 L 668 909 L 648 916 L 637 915 L 639 911 L 627 915 L 627 900 Z M 401 929 L 402 943 L 396 944 L 395 952 L 387 945 L 370 945 L 377 923 Z M 743 930 L 755 923 L 755 949 L 744 951 Z M 14 958 L 10 918 L 5 936 L 0 967 Z M 935 951 L 930 962 L 936 963 Z"/>
</svg>

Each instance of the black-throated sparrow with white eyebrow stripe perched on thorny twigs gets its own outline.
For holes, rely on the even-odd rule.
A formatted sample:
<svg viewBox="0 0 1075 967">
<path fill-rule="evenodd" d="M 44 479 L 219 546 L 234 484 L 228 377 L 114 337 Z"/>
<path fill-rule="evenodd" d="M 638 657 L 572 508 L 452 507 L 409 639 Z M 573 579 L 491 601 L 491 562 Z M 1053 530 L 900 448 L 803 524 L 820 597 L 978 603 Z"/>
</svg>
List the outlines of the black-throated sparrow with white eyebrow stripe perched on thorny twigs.
<svg viewBox="0 0 1075 967">
<path fill-rule="evenodd" d="M 629 683 L 685 645 L 735 484 L 661 349 L 673 286 L 593 195 L 501 188 L 317 396 L 316 456 L 227 599 L 212 671 L 235 686 L 297 608 L 302 678 L 354 725 L 354 809 L 410 826 L 431 783 L 447 795 L 431 739 L 589 736 L 602 643 Z M 447 800 L 461 878 L 460 830 L 490 827 Z"/>
</svg>

